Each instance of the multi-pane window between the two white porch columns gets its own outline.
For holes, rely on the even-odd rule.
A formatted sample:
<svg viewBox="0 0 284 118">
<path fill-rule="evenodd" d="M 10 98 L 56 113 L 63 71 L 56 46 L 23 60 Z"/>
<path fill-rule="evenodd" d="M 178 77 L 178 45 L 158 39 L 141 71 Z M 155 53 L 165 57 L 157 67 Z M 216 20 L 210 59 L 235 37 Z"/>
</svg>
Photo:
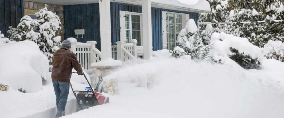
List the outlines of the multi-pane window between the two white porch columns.
<svg viewBox="0 0 284 118">
<path fill-rule="evenodd" d="M 125 14 L 126 42 L 132 39 L 137 40 L 141 46 L 141 17 L 139 14 Z"/>
</svg>

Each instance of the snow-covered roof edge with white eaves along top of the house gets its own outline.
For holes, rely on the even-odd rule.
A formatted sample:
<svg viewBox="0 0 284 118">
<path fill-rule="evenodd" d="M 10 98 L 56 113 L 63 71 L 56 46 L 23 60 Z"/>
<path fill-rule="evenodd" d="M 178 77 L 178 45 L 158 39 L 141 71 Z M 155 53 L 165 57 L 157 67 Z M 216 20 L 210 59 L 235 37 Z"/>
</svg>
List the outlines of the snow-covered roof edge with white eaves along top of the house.
<svg viewBox="0 0 284 118">
<path fill-rule="evenodd" d="M 91 4 L 99 3 L 99 0 L 24 0 L 57 5 Z M 141 4 L 141 0 L 111 0 L 130 4 Z M 173 9 L 191 12 L 211 12 L 210 4 L 206 0 L 151 0 L 152 6 L 163 9 Z"/>
</svg>

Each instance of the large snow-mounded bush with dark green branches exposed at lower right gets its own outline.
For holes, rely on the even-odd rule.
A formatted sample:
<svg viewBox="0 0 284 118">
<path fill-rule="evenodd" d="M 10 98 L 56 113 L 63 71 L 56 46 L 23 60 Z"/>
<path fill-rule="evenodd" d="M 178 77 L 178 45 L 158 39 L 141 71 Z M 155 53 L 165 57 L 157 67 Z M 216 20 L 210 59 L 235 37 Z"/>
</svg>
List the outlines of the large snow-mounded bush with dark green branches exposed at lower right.
<svg viewBox="0 0 284 118">
<path fill-rule="evenodd" d="M 217 34 L 215 33 L 214 36 Z M 211 56 L 215 62 L 226 63 L 230 58 L 245 69 L 260 68 L 263 58 L 261 49 L 252 45 L 248 39 L 221 32 L 218 38 L 212 40 L 214 42 L 211 42 L 213 45 Z"/>
</svg>

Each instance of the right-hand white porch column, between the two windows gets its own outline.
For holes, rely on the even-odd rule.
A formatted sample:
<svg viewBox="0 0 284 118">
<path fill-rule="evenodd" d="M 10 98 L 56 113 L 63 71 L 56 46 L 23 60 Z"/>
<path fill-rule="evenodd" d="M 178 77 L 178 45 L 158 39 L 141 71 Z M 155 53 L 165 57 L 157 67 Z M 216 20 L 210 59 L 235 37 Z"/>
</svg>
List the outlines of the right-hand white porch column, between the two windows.
<svg viewBox="0 0 284 118">
<path fill-rule="evenodd" d="M 151 0 L 142 0 L 143 59 L 152 57 Z"/>
</svg>

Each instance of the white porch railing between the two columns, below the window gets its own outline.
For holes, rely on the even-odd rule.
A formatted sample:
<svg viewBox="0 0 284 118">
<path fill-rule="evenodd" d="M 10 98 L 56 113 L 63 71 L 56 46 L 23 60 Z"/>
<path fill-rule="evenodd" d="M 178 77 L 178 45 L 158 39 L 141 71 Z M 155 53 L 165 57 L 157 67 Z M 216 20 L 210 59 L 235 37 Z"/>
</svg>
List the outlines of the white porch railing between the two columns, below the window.
<svg viewBox="0 0 284 118">
<path fill-rule="evenodd" d="M 112 46 L 112 58 L 115 60 L 127 61 L 137 60 L 137 40 L 133 39 L 130 43 L 116 42 Z"/>
</svg>

